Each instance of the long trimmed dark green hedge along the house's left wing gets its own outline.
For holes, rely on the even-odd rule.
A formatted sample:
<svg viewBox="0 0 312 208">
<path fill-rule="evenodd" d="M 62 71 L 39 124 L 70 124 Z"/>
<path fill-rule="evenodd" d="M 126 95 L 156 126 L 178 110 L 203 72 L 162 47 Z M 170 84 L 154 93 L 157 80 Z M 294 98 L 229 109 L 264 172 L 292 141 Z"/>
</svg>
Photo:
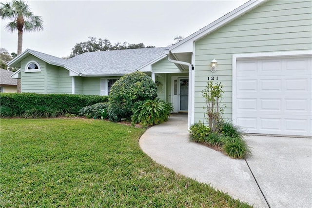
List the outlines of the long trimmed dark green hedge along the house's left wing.
<svg viewBox="0 0 312 208">
<path fill-rule="evenodd" d="M 37 94 L 37 93 L 0 93 L 0 106 L 14 112 L 11 116 L 23 114 L 36 106 L 47 106 L 57 109 L 61 114 L 78 114 L 88 105 L 108 102 L 108 96 L 73 95 L 73 94 Z"/>
</svg>

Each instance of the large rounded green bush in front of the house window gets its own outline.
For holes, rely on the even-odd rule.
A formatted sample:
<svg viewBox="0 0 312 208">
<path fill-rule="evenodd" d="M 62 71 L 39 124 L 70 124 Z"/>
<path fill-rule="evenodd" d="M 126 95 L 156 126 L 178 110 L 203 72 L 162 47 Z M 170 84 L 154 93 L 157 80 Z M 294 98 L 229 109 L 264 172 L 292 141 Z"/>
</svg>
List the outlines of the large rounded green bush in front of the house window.
<svg viewBox="0 0 312 208">
<path fill-rule="evenodd" d="M 111 121 L 120 121 L 133 114 L 138 101 L 154 100 L 157 97 L 157 86 L 143 72 L 133 72 L 121 77 L 113 84 L 109 94 L 108 114 Z"/>
</svg>

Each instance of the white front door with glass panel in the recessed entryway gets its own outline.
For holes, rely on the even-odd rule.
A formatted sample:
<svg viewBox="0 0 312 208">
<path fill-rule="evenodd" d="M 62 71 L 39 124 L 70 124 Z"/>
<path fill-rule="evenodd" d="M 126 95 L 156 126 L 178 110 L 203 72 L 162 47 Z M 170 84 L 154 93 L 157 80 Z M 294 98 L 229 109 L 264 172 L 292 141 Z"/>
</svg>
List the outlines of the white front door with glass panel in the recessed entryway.
<svg viewBox="0 0 312 208">
<path fill-rule="evenodd" d="M 172 77 L 172 104 L 174 112 L 188 112 L 189 79 L 187 77 Z"/>
</svg>

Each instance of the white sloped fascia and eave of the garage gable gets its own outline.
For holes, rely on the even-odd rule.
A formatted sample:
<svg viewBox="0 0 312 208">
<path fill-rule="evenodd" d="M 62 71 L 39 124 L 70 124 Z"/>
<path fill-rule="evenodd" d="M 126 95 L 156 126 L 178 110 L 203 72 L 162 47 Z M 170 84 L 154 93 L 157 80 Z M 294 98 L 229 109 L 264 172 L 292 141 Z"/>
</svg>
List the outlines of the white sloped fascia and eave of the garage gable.
<svg viewBox="0 0 312 208">
<path fill-rule="evenodd" d="M 193 48 L 190 50 L 190 47 L 193 47 L 193 42 L 201 39 L 202 37 L 208 35 L 209 33 L 215 31 L 216 29 L 222 27 L 223 25 L 229 23 L 230 21 L 233 21 L 237 17 L 242 16 L 246 12 L 254 9 L 255 7 L 259 6 L 263 2 L 267 0 L 250 0 L 240 7 L 234 9 L 232 12 L 229 12 L 228 14 L 224 15 L 223 17 L 219 18 L 218 20 L 210 23 L 209 25 L 203 27 L 202 29 L 198 30 L 197 32 L 193 33 L 189 37 L 186 37 L 182 41 L 174 44 L 169 48 L 172 53 L 177 53 L 176 51 L 179 51 L 179 53 L 182 52 L 193 52 Z M 183 46 L 186 44 L 186 46 Z M 180 49 L 178 49 L 180 48 Z M 185 51 L 183 51 L 185 49 Z M 174 52 L 175 51 L 175 52 Z"/>
</svg>

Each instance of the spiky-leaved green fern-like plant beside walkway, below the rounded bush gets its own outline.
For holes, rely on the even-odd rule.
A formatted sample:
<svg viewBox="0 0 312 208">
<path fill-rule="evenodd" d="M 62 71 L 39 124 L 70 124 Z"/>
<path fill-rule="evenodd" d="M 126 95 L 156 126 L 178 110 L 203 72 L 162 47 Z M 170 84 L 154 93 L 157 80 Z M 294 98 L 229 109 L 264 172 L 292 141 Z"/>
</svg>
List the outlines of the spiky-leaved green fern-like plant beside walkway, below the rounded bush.
<svg viewBox="0 0 312 208">
<path fill-rule="evenodd" d="M 139 101 L 135 104 L 134 113 L 131 120 L 134 123 L 139 123 L 143 127 L 161 124 L 168 121 L 170 112 L 173 111 L 171 103 L 159 100 Z"/>
</svg>

